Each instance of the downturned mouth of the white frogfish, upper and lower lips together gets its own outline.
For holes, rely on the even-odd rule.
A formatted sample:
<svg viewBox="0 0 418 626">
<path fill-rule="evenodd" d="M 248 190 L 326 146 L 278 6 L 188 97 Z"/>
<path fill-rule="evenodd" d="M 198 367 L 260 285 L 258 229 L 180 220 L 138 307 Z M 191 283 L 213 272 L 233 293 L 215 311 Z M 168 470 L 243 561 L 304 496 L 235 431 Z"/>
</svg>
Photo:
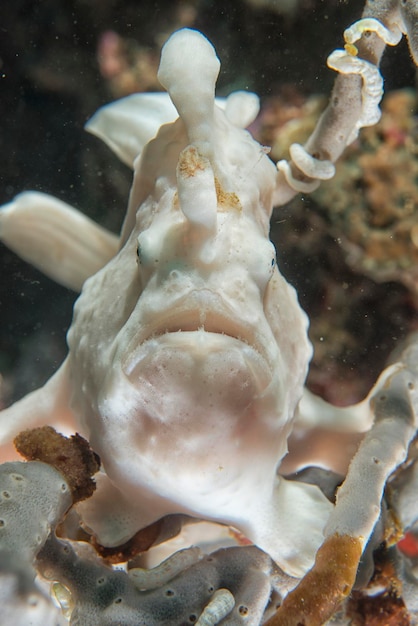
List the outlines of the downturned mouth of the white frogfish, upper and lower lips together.
<svg viewBox="0 0 418 626">
<path fill-rule="evenodd" d="M 180 374 L 186 380 L 194 378 L 194 370 L 210 370 L 218 385 L 224 384 L 225 376 L 234 387 L 231 372 L 235 372 L 237 385 L 262 393 L 271 384 L 275 368 L 258 340 L 259 329 L 229 312 L 220 313 L 219 308 L 214 312 L 202 305 L 187 310 L 175 307 L 155 324 L 147 324 L 125 351 L 124 374 L 134 384 L 141 379 L 169 385 Z"/>
</svg>

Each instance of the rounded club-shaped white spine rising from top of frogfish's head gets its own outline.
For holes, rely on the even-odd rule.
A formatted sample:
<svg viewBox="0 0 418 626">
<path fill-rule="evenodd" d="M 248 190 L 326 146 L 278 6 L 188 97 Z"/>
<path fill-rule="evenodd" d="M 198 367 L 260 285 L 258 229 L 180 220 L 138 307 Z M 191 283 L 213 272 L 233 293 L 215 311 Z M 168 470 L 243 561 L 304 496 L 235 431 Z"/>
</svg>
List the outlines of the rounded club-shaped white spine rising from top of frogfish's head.
<svg viewBox="0 0 418 626">
<path fill-rule="evenodd" d="M 158 70 L 158 80 L 186 125 L 190 143 L 209 158 L 219 68 L 212 44 L 197 31 L 184 28 L 165 43 Z"/>
</svg>

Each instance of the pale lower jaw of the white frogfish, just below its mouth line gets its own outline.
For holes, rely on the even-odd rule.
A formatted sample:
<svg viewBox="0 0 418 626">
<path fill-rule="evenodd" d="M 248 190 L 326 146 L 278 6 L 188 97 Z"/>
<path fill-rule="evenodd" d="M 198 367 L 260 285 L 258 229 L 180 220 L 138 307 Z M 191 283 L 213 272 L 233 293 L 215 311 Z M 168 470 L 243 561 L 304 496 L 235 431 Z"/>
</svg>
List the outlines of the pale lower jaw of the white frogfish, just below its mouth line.
<svg viewBox="0 0 418 626">
<path fill-rule="evenodd" d="M 271 389 L 274 380 L 274 371 L 255 348 L 204 328 L 154 335 L 138 346 L 122 367 L 138 389 L 193 397 L 193 403 L 206 408 L 231 405 L 232 410 L 237 398 L 240 405 L 248 406 Z M 218 400 L 213 404 L 215 397 Z"/>
</svg>

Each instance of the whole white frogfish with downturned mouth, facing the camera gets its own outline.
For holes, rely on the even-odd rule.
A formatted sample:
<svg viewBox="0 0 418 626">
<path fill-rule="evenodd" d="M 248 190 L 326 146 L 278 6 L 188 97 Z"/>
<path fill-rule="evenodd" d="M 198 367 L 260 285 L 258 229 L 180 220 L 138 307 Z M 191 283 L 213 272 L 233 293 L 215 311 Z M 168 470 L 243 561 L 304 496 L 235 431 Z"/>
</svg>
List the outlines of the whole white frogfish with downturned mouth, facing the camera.
<svg viewBox="0 0 418 626">
<path fill-rule="evenodd" d="M 103 463 L 80 506 L 103 545 L 180 513 L 236 527 L 300 576 L 332 509 L 278 473 L 311 357 L 307 318 L 268 236 L 277 170 L 244 130 L 254 99 L 218 106 L 219 66 L 205 37 L 180 30 L 159 69 L 169 123 L 136 139 L 123 101 L 93 119 L 127 162 L 147 142 L 119 249 L 108 242 L 82 287 L 64 364 L 2 413 L 0 436 L 73 420 Z"/>
</svg>

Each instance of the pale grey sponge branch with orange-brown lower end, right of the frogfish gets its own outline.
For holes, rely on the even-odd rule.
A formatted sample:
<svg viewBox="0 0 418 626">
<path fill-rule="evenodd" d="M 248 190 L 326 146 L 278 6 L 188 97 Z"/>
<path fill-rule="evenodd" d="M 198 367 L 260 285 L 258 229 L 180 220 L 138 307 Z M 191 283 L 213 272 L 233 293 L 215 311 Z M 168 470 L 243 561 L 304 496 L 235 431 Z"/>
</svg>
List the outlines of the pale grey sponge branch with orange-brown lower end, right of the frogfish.
<svg viewBox="0 0 418 626">
<path fill-rule="evenodd" d="M 415 352 L 415 351 L 414 351 Z M 405 461 L 416 433 L 418 372 L 411 354 L 388 368 L 371 398 L 375 423 L 355 454 L 337 491 L 325 526 L 325 541 L 313 568 L 284 599 L 266 626 L 321 626 L 349 595 L 362 553 L 381 513 L 391 474 Z"/>
</svg>

